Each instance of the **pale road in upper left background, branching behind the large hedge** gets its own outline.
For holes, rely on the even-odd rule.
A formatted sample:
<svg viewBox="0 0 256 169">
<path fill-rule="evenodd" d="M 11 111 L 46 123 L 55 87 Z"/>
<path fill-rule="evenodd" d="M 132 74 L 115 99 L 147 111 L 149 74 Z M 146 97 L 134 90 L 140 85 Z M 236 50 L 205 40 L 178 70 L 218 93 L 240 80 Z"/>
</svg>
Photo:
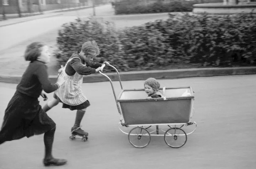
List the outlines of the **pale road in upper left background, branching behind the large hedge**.
<svg viewBox="0 0 256 169">
<path fill-rule="evenodd" d="M 58 29 L 61 28 L 62 24 L 75 21 L 77 16 L 87 18 L 92 15 L 92 11 L 92 8 L 89 8 L 78 11 L 58 12 L 62 15 L 0 27 L 0 51 L 6 53 L 8 48 L 16 47 L 17 44 L 21 44 L 22 42 L 30 39 L 34 40 L 37 38 L 40 41 L 41 39 L 39 37 L 49 32 L 55 32 L 55 34 L 57 34 Z M 103 17 L 105 18 L 105 21 L 118 21 L 116 22 L 116 26 L 118 28 L 140 25 L 145 22 L 165 19 L 168 17 L 166 13 L 146 14 L 140 16 L 114 16 L 114 9 L 111 8 L 110 4 L 97 6 L 95 7 L 95 11 L 96 17 Z"/>
</svg>

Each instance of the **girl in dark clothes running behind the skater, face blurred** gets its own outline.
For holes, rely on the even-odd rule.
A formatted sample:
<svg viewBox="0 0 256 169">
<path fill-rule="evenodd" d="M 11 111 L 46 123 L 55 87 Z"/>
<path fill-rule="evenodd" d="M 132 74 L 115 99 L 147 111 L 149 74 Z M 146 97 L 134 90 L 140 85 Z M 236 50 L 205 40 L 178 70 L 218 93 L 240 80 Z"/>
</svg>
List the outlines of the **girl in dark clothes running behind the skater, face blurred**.
<svg viewBox="0 0 256 169">
<path fill-rule="evenodd" d="M 23 73 L 16 92 L 5 110 L 4 121 L 0 131 L 0 145 L 6 141 L 18 140 L 23 137 L 41 135 L 44 133 L 45 157 L 43 164 L 64 165 L 67 160 L 52 156 L 52 145 L 56 130 L 55 122 L 43 111 L 38 98 L 58 89 L 65 81 L 58 78 L 56 83 L 50 83 L 47 66 L 50 60 L 48 46 L 34 42 L 27 46 L 25 60 L 30 61 Z M 46 93 L 45 93 L 45 92 Z"/>
</svg>

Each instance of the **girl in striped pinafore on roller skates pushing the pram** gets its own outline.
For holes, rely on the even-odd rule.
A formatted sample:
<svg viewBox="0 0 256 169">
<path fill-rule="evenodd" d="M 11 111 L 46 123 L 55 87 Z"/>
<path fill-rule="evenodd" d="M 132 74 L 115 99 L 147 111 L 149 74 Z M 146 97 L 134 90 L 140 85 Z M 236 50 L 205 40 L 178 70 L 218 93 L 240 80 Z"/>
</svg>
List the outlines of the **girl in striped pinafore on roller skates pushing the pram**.
<svg viewBox="0 0 256 169">
<path fill-rule="evenodd" d="M 80 126 L 86 108 L 90 106 L 89 100 L 82 92 L 82 82 L 84 75 L 102 71 L 101 66 L 105 63 L 108 64 L 108 62 L 103 64 L 92 62 L 98 54 L 100 54 L 100 50 L 94 40 L 82 44 L 80 53 L 73 53 L 66 65 L 59 70 L 60 75 L 63 74 L 67 80 L 54 92 L 54 99 L 43 107 L 43 110 L 47 112 L 61 102 L 63 103 L 62 108 L 77 110 L 75 124 L 71 128 L 72 135 L 88 136 L 88 132 L 82 130 Z"/>
</svg>

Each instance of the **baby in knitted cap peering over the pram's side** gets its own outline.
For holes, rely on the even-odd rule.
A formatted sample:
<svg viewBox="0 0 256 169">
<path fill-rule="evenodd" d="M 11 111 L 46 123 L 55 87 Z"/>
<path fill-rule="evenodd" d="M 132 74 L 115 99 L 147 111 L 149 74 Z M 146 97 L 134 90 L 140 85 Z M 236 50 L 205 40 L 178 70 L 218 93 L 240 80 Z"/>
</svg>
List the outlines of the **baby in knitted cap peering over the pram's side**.
<svg viewBox="0 0 256 169">
<path fill-rule="evenodd" d="M 158 90 L 160 88 L 160 83 L 155 78 L 148 78 L 144 82 L 144 89 L 148 97 L 146 99 L 152 98 L 162 98 L 163 94 Z"/>
</svg>

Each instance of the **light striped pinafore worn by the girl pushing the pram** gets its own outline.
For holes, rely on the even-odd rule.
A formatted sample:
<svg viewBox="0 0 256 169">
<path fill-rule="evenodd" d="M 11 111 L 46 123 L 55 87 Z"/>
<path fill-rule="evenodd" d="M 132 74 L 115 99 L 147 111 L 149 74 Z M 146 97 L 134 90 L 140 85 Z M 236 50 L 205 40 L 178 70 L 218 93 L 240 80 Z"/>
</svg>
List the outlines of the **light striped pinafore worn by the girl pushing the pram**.
<svg viewBox="0 0 256 169">
<path fill-rule="evenodd" d="M 74 58 L 69 59 L 66 62 L 66 65 L 64 67 L 62 66 L 60 69 L 61 72 L 59 76 L 66 77 L 66 81 L 62 84 L 62 86 L 59 87 L 59 89 L 54 92 L 60 98 L 60 100 L 62 100 L 63 103 L 72 106 L 82 104 L 87 100 L 87 98 L 82 93 L 83 75 L 79 75 L 77 72 L 75 72 L 73 76 L 69 76 L 65 72 L 68 62 Z M 80 58 L 78 59 L 81 61 Z"/>
</svg>

